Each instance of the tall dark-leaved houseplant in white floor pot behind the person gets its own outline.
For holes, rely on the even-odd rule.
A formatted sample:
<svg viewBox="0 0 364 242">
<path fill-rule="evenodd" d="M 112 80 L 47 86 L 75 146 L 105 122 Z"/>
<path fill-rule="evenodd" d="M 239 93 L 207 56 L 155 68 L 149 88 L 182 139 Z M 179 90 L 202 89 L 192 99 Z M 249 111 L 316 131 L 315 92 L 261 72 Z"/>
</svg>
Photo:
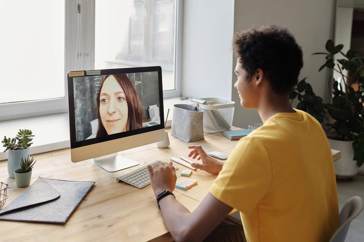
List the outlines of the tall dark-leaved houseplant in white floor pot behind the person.
<svg viewBox="0 0 364 242">
<path fill-rule="evenodd" d="M 332 97 L 330 103 L 322 103 L 322 98 L 313 93 L 308 83 L 302 84 L 304 80 L 298 83 L 290 98 L 297 97 L 301 101 L 297 108 L 307 111 L 322 123 L 331 147 L 341 151 L 342 158 L 335 162 L 337 176 L 352 178 L 364 163 L 364 64 L 355 51 L 341 52 L 343 47 L 328 40 L 325 46 L 327 52 L 313 53 L 325 56 L 326 61 L 318 71 L 327 67 L 340 74 L 340 83 L 332 77 L 328 80 Z M 336 54 L 340 54 L 341 58 L 335 58 Z M 347 70 L 347 75 L 343 70 Z M 353 89 L 353 85 L 357 86 L 357 90 Z M 301 94 L 303 91 L 305 93 Z M 331 117 L 326 124 L 325 110 Z"/>
</svg>

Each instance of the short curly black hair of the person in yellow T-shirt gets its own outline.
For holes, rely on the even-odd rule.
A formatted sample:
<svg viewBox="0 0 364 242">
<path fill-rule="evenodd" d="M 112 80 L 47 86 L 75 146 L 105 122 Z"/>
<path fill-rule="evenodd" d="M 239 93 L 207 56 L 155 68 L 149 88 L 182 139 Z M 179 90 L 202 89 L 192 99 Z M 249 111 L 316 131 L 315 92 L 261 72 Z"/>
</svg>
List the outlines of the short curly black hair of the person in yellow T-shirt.
<svg viewBox="0 0 364 242">
<path fill-rule="evenodd" d="M 268 25 L 234 33 L 233 52 L 249 79 L 262 69 L 275 93 L 288 94 L 297 85 L 302 49 L 288 29 Z"/>
</svg>

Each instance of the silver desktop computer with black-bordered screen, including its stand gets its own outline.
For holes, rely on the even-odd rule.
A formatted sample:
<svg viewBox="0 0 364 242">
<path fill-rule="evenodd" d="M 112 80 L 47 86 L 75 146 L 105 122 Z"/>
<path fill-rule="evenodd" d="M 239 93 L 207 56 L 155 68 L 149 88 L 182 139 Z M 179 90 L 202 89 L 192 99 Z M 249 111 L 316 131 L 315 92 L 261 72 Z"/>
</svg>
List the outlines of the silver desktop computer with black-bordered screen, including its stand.
<svg viewBox="0 0 364 242">
<path fill-rule="evenodd" d="M 115 172 L 139 164 L 118 151 L 164 139 L 160 66 L 70 71 L 67 82 L 72 162 Z"/>
</svg>

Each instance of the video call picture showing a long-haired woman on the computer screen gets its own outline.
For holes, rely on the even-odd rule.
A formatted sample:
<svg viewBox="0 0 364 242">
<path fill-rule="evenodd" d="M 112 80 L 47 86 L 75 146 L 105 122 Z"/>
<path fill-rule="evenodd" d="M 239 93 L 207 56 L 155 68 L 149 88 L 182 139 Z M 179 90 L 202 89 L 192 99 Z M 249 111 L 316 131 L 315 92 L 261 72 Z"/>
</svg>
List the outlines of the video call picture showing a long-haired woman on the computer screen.
<svg viewBox="0 0 364 242">
<path fill-rule="evenodd" d="M 74 77 L 76 141 L 161 124 L 158 71 Z"/>
</svg>

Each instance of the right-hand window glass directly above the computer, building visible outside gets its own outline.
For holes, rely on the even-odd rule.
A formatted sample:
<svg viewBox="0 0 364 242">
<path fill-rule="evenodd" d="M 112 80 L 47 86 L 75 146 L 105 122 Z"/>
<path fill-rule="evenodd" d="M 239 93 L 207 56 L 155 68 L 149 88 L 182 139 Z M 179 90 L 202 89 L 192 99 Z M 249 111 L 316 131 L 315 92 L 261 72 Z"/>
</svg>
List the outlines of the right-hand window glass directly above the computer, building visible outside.
<svg viewBox="0 0 364 242">
<path fill-rule="evenodd" d="M 95 69 L 162 66 L 175 85 L 175 0 L 96 0 Z"/>
</svg>

